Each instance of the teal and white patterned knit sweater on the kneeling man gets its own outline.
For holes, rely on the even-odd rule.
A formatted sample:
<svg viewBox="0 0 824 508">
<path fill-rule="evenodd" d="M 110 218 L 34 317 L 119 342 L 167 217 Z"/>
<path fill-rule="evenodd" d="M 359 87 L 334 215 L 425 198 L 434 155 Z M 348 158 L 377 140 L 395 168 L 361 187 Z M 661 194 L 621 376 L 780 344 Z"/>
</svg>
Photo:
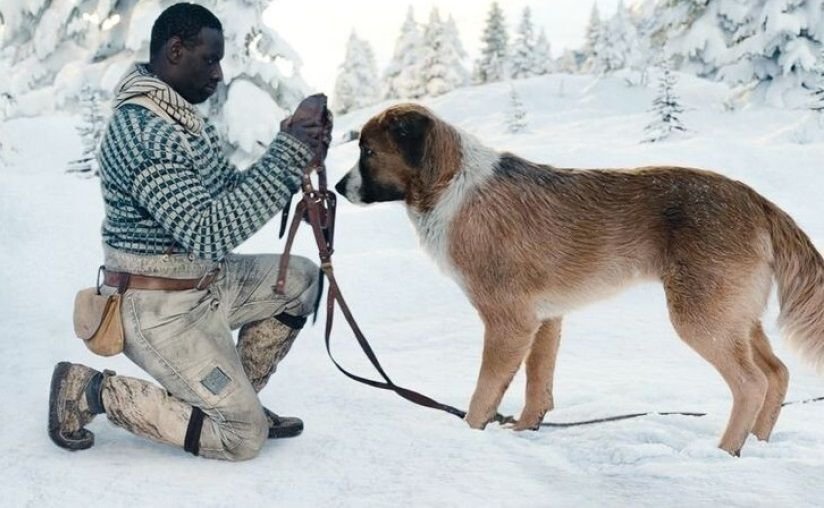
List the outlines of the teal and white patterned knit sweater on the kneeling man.
<svg viewBox="0 0 824 508">
<path fill-rule="evenodd" d="M 186 252 L 219 261 L 283 209 L 311 158 L 281 132 L 260 160 L 239 171 L 209 122 L 196 135 L 124 105 L 98 154 L 103 241 L 136 254 Z"/>
</svg>

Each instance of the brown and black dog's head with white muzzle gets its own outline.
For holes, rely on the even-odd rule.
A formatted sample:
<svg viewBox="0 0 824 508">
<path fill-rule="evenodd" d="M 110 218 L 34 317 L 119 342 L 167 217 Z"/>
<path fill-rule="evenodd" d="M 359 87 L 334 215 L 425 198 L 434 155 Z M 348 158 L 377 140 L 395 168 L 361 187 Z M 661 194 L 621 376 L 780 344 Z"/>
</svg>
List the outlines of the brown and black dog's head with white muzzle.
<svg viewBox="0 0 824 508">
<path fill-rule="evenodd" d="M 360 157 L 335 189 L 356 204 L 406 201 L 412 204 L 432 186 L 457 150 L 443 138 L 453 132 L 431 111 L 416 104 L 393 106 L 371 118 L 360 134 Z M 454 159 L 454 157 L 452 157 Z"/>
</svg>

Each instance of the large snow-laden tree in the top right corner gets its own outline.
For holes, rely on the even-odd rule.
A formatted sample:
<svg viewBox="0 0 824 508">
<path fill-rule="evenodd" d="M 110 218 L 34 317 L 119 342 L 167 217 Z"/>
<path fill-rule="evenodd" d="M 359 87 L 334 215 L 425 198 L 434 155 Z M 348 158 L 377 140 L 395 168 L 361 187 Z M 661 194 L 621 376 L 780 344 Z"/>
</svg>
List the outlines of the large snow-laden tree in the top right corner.
<svg viewBox="0 0 824 508">
<path fill-rule="evenodd" d="M 730 1 L 730 0 L 727 0 Z M 738 40 L 719 71 L 731 83 L 758 83 L 773 105 L 798 106 L 819 80 L 824 0 L 752 0 L 739 15 Z"/>
</svg>

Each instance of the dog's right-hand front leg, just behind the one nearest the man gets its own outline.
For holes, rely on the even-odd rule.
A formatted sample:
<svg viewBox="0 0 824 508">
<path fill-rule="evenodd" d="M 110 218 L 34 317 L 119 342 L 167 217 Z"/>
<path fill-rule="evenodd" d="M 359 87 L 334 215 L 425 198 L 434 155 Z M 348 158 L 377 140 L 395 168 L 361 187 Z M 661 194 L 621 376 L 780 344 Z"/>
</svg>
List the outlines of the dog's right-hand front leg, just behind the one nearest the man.
<svg viewBox="0 0 824 508">
<path fill-rule="evenodd" d="M 526 403 L 515 430 L 537 430 L 547 411 L 552 411 L 555 359 L 561 341 L 561 318 L 541 323 L 526 359 Z"/>
</svg>

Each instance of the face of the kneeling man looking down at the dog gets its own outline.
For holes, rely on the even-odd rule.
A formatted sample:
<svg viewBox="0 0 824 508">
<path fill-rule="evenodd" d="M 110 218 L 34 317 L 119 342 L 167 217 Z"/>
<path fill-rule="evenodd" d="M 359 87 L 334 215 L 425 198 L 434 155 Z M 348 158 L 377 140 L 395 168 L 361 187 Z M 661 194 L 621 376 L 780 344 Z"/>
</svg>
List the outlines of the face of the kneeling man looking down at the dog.
<svg viewBox="0 0 824 508">
<path fill-rule="evenodd" d="M 200 104 L 215 93 L 223 80 L 220 61 L 223 59 L 223 32 L 203 28 L 194 44 L 179 43 L 174 65 L 173 88 L 192 104 Z"/>
</svg>

